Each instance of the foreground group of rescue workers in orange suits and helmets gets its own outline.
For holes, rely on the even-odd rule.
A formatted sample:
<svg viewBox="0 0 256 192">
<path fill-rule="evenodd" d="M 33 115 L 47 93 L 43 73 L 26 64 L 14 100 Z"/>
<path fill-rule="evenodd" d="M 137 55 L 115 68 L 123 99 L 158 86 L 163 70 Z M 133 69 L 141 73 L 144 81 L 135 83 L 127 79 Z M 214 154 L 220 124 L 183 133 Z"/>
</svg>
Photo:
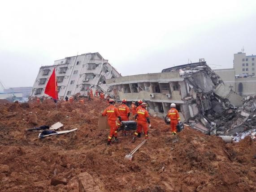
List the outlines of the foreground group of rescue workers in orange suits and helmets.
<svg viewBox="0 0 256 192">
<path fill-rule="evenodd" d="M 117 139 L 117 129 L 121 124 L 121 121 L 128 121 L 130 116 L 130 108 L 126 105 L 127 100 L 122 99 L 122 104 L 117 108 L 114 106 L 116 101 L 112 98 L 109 99 L 109 106 L 102 112 L 102 116 L 107 116 L 108 125 L 110 127 L 110 132 L 108 135 L 107 144 L 110 145 L 112 139 L 113 142 L 118 142 Z M 137 121 L 137 130 L 134 132 L 133 142 L 135 142 L 136 137 L 141 137 L 141 132 L 144 132 L 145 139 L 148 139 L 148 128 L 151 127 L 149 114 L 147 111 L 148 104 L 143 102 L 142 100 L 138 101 L 138 106 L 135 106 L 135 102 L 132 102 L 132 115 L 134 119 Z M 177 124 L 180 123 L 180 117 L 178 110 L 176 109 L 175 103 L 171 104 L 171 108 L 168 111 L 166 117 L 170 119 L 171 131 L 173 135 L 177 134 Z M 116 124 L 116 119 L 119 119 Z M 148 124 L 149 125 L 148 125 Z M 124 132 L 126 135 L 126 132 Z"/>
</svg>

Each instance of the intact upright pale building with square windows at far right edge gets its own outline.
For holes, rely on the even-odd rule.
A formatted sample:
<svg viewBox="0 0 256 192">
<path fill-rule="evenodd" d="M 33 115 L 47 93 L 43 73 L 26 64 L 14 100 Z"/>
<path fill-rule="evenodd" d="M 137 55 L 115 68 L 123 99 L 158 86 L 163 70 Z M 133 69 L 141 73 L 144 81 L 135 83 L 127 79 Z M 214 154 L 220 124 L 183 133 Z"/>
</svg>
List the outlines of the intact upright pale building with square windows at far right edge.
<svg viewBox="0 0 256 192">
<path fill-rule="evenodd" d="M 234 70 L 237 76 L 255 76 L 256 55 L 246 55 L 238 52 L 234 54 Z"/>
</svg>

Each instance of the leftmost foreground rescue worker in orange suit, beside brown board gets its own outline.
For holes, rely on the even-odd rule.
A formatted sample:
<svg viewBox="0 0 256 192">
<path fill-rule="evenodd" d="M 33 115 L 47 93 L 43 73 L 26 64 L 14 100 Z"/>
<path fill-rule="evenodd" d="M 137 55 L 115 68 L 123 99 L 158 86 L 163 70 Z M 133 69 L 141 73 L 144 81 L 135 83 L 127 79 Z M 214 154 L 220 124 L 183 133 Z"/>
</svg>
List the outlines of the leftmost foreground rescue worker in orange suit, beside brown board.
<svg viewBox="0 0 256 192">
<path fill-rule="evenodd" d="M 116 125 L 116 119 L 118 118 L 119 121 L 121 121 L 121 116 L 119 114 L 119 111 L 117 107 L 114 106 L 115 104 L 114 99 L 109 99 L 109 106 L 102 112 L 102 116 L 108 117 L 108 125 L 110 127 L 110 132 L 108 136 L 108 145 L 110 145 L 112 138 L 115 138 L 115 142 L 117 142 L 117 125 Z"/>
</svg>

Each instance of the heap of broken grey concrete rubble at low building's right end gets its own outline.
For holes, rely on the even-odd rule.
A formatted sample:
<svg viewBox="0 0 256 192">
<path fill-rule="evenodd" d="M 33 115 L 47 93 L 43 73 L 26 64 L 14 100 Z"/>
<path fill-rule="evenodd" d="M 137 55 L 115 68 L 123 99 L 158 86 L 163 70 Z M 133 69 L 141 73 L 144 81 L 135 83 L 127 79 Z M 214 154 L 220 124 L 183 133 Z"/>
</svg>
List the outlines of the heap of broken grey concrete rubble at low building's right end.
<svg viewBox="0 0 256 192">
<path fill-rule="evenodd" d="M 191 118 L 187 123 L 191 128 L 205 134 L 231 136 L 234 141 L 248 135 L 255 139 L 256 95 L 243 98 L 236 94 L 206 64 L 194 68 L 178 67 L 180 76 L 191 87 L 191 92 L 194 91 L 184 98 L 190 103 Z"/>
</svg>

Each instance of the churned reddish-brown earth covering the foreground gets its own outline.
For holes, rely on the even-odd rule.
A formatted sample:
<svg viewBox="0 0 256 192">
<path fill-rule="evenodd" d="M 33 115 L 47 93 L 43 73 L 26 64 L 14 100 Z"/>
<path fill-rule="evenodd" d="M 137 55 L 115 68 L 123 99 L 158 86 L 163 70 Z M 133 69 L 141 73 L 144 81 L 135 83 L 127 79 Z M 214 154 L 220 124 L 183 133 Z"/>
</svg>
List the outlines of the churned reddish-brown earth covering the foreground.
<svg viewBox="0 0 256 192">
<path fill-rule="evenodd" d="M 250 137 L 225 144 L 221 138 L 185 129 L 174 137 L 162 119 L 151 117 L 149 140 L 124 160 L 140 142 L 132 135 L 107 146 L 108 130 L 98 130 L 98 115 L 107 103 L 93 101 L 30 102 L 0 105 L 0 191 L 255 191 L 255 141 Z M 76 132 L 38 138 L 34 126 L 60 121 L 60 130 Z"/>
</svg>

